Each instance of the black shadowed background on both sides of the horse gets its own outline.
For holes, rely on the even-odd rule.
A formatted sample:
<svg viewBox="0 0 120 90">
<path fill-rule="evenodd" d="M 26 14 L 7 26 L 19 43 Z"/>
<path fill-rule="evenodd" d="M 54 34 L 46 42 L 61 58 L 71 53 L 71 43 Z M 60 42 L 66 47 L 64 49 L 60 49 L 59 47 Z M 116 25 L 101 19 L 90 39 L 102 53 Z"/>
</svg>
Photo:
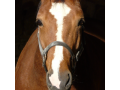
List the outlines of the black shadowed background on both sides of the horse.
<svg viewBox="0 0 120 90">
<path fill-rule="evenodd" d="M 35 21 L 38 4 L 39 0 L 15 0 L 16 63 L 21 50 L 36 29 Z M 105 1 L 81 0 L 81 6 L 86 21 L 85 31 L 105 39 Z M 83 88 L 89 87 L 89 90 L 105 90 L 105 42 L 86 33 L 85 40 L 86 49 L 81 57 L 83 60 L 78 62 L 79 71 L 82 73 L 78 73 L 78 76 L 83 78 L 78 80 Z M 82 84 L 84 82 L 86 84 Z"/>
</svg>

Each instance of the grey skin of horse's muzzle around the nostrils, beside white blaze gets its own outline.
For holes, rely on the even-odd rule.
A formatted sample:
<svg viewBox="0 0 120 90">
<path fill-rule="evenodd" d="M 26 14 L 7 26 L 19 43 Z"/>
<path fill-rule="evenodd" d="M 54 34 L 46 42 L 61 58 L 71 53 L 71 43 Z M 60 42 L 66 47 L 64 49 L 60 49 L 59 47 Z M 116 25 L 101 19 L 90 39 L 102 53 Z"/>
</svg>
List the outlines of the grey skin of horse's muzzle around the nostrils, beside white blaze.
<svg viewBox="0 0 120 90">
<path fill-rule="evenodd" d="M 59 74 L 59 88 L 52 84 L 52 81 L 50 81 L 50 77 L 53 74 L 52 70 L 47 72 L 46 75 L 46 82 L 49 90 L 69 90 L 72 84 L 72 75 L 69 71 L 65 71 L 61 74 Z"/>
</svg>

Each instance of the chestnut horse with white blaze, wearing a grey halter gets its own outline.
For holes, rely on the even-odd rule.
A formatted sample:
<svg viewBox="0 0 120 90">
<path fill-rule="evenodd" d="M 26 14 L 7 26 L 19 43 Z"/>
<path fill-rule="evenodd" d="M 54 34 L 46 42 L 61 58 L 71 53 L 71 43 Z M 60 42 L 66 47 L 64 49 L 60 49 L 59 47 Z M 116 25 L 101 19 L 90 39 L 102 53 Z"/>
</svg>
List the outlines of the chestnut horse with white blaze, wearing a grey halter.
<svg viewBox="0 0 120 90">
<path fill-rule="evenodd" d="M 17 62 L 15 89 L 76 90 L 72 80 L 84 23 L 79 0 L 41 0 L 36 21 Z"/>
</svg>

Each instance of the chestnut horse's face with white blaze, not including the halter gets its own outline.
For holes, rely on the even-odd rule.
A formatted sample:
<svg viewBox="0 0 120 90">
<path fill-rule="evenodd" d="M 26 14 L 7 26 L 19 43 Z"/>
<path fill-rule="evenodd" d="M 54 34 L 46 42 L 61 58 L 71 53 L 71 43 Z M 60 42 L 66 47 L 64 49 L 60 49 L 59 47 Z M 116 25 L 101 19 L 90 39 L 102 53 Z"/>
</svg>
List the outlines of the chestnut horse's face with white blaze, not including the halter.
<svg viewBox="0 0 120 90">
<path fill-rule="evenodd" d="M 36 19 L 43 49 L 54 41 L 61 41 L 76 54 L 80 47 L 83 18 L 77 0 L 42 0 Z M 70 59 L 69 51 L 63 46 L 54 46 L 48 51 L 46 81 L 50 90 L 70 88 L 72 84 Z"/>
</svg>

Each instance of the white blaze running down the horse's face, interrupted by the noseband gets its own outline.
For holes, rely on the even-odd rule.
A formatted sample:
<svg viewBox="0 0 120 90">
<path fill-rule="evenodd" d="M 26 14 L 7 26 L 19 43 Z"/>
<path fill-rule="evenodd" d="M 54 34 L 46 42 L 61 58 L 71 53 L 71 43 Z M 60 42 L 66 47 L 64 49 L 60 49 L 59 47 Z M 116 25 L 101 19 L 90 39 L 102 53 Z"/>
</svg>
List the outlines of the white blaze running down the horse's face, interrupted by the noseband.
<svg viewBox="0 0 120 90">
<path fill-rule="evenodd" d="M 62 41 L 62 30 L 63 30 L 63 18 L 67 16 L 70 12 L 70 8 L 65 3 L 52 3 L 51 9 L 49 12 L 54 15 L 57 24 L 57 33 L 56 33 L 56 41 Z M 63 46 L 56 46 L 54 52 L 54 59 L 52 60 L 52 70 L 53 74 L 49 77 L 53 86 L 56 86 L 58 89 L 60 88 L 60 80 L 59 80 L 59 67 L 60 63 L 63 60 Z"/>
</svg>

